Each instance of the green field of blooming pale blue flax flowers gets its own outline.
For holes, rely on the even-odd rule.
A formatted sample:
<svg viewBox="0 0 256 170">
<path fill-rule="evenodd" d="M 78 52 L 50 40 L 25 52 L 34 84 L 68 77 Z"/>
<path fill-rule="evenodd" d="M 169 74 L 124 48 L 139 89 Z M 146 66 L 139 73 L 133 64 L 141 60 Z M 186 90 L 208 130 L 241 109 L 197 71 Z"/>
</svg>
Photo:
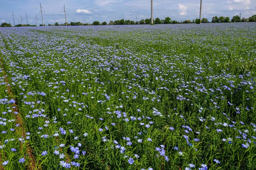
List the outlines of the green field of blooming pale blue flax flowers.
<svg viewBox="0 0 256 170">
<path fill-rule="evenodd" d="M 0 169 L 256 169 L 256 23 L 0 29 Z"/>
</svg>

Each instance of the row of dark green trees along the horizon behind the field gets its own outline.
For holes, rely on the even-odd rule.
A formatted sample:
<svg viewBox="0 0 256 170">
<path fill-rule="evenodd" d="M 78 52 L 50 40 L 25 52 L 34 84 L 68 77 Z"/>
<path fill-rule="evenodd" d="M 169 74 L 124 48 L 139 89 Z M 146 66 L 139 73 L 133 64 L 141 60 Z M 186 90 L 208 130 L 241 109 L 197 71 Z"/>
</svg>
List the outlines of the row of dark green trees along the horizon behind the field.
<svg viewBox="0 0 256 170">
<path fill-rule="evenodd" d="M 176 24 L 176 23 L 237 23 L 237 22 L 256 22 L 256 15 L 253 15 L 249 18 L 245 17 L 239 17 L 238 15 L 233 16 L 232 19 L 230 20 L 230 17 L 212 17 L 212 21 L 210 22 L 207 18 L 202 18 L 200 19 L 194 19 L 194 20 L 172 20 L 170 17 L 166 17 L 164 20 L 160 20 L 160 18 L 153 19 L 154 24 Z M 80 23 L 80 22 L 71 22 L 67 23 L 68 26 L 99 26 L 99 25 L 143 25 L 143 24 L 151 24 L 151 18 L 143 19 L 140 21 L 133 21 L 133 20 L 110 20 L 109 23 L 106 21 L 100 23 L 99 21 L 94 21 L 92 24 L 91 23 Z M 12 25 L 10 23 L 2 23 L 0 27 L 11 27 Z M 15 25 L 15 27 L 19 26 L 36 26 L 36 25 Z M 43 24 L 40 24 L 39 26 L 43 26 Z M 46 26 L 46 25 L 44 25 Z M 54 24 L 48 24 L 48 26 L 66 26 L 66 23 L 54 23 Z"/>
</svg>

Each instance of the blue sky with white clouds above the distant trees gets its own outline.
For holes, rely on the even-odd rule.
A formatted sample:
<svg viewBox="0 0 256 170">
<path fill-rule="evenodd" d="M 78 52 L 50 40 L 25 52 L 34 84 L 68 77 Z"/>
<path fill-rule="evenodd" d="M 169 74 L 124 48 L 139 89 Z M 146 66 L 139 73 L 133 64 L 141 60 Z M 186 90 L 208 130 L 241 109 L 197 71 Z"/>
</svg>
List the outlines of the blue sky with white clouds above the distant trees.
<svg viewBox="0 0 256 170">
<path fill-rule="evenodd" d="M 151 0 L 1 0 L 0 23 L 13 24 L 12 11 L 15 14 L 15 24 L 26 15 L 29 24 L 42 23 L 40 4 L 43 7 L 44 23 L 64 23 L 63 4 L 67 11 L 67 22 L 92 23 L 109 20 L 137 20 L 150 18 Z M 171 17 L 172 20 L 192 20 L 199 18 L 200 0 L 154 0 L 154 18 Z M 202 17 L 211 20 L 213 16 L 232 17 L 240 14 L 250 17 L 256 14 L 256 0 L 203 0 Z"/>
</svg>

